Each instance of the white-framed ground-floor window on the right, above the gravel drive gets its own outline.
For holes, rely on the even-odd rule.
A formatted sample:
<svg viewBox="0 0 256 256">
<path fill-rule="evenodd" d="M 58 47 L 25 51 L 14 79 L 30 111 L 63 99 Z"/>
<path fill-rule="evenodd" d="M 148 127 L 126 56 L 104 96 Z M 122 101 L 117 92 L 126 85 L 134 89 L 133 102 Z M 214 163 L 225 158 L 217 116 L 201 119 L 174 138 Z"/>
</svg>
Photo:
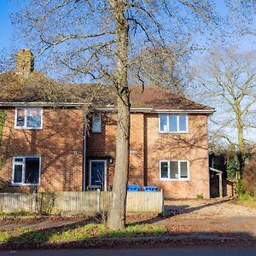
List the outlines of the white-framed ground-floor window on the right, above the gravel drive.
<svg viewBox="0 0 256 256">
<path fill-rule="evenodd" d="M 160 161 L 160 180 L 188 180 L 189 161 L 162 160 Z"/>
</svg>

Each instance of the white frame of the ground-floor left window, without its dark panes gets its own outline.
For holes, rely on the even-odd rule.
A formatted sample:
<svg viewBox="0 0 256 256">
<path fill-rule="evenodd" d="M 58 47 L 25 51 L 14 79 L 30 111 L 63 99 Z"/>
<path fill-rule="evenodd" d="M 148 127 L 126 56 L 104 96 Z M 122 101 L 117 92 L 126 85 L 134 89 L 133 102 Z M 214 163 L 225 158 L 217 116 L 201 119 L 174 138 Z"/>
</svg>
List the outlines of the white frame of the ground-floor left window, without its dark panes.
<svg viewBox="0 0 256 256">
<path fill-rule="evenodd" d="M 22 166 L 22 182 L 21 183 L 15 183 L 14 178 L 15 178 L 15 159 L 16 158 L 22 158 L 22 162 L 17 162 L 20 163 L 20 166 Z M 26 163 L 26 158 L 38 158 L 39 159 L 39 170 L 38 170 L 38 183 L 25 183 L 25 163 Z M 12 180 L 11 184 L 13 186 L 39 186 L 41 183 L 41 156 L 38 155 L 15 155 L 13 156 L 12 160 Z"/>
</svg>

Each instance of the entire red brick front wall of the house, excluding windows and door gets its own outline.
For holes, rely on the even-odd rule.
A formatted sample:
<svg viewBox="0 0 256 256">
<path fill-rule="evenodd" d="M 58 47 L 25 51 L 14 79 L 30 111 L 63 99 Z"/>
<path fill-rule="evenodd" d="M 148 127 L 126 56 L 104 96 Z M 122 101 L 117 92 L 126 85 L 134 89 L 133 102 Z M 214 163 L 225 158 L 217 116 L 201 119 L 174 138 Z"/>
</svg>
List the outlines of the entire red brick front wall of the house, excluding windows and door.
<svg viewBox="0 0 256 256">
<path fill-rule="evenodd" d="M 42 156 L 39 191 L 83 189 L 83 110 L 45 109 L 43 130 L 15 130 L 14 109 L 8 110 L 3 141 L 11 134 L 9 158 L 0 171 L 6 191 L 29 191 L 27 186 L 11 187 L 11 156 Z M 102 133 L 89 131 L 86 142 L 86 185 L 89 160 L 108 160 L 108 186 L 113 184 L 115 163 L 115 113 L 104 113 Z M 131 167 L 129 183 L 156 185 L 166 197 L 209 197 L 207 116 L 189 115 L 186 134 L 160 134 L 158 114 L 131 114 Z M 189 160 L 189 181 L 160 181 L 160 160 Z"/>
</svg>

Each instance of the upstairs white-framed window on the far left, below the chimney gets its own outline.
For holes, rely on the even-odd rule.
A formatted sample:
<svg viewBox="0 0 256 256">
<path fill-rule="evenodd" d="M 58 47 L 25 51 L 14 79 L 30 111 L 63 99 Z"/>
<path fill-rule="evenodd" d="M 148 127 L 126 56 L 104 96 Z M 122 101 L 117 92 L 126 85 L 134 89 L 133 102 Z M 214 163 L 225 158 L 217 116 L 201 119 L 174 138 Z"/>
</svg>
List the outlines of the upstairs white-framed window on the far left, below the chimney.
<svg viewBox="0 0 256 256">
<path fill-rule="evenodd" d="M 43 108 L 16 108 L 16 129 L 42 129 Z"/>
</svg>

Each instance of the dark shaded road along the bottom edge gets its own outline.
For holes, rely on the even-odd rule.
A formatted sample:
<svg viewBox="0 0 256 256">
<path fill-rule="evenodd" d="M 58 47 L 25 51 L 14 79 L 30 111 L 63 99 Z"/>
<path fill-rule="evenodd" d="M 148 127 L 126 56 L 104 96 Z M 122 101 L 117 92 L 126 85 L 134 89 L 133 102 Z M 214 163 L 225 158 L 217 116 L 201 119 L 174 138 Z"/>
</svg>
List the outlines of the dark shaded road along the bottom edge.
<svg viewBox="0 0 256 256">
<path fill-rule="evenodd" d="M 191 247 L 191 248 L 135 248 L 135 249 L 68 249 L 0 252 L 1 256 L 255 256 L 256 248 Z"/>
</svg>

